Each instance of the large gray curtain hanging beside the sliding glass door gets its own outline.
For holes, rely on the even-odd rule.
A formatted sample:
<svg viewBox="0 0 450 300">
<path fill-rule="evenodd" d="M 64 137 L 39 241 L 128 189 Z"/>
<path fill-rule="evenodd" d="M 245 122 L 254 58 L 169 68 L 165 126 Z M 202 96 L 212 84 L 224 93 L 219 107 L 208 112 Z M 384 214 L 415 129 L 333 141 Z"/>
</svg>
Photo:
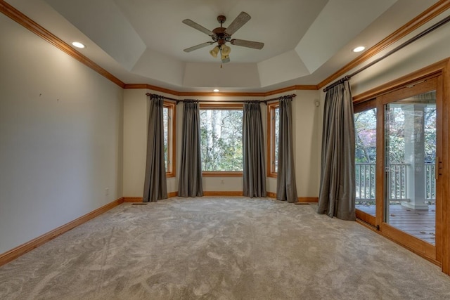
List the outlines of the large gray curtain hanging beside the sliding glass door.
<svg viewBox="0 0 450 300">
<path fill-rule="evenodd" d="M 355 220 L 354 116 L 349 81 L 326 93 L 321 160 L 319 214 Z"/>
</svg>

